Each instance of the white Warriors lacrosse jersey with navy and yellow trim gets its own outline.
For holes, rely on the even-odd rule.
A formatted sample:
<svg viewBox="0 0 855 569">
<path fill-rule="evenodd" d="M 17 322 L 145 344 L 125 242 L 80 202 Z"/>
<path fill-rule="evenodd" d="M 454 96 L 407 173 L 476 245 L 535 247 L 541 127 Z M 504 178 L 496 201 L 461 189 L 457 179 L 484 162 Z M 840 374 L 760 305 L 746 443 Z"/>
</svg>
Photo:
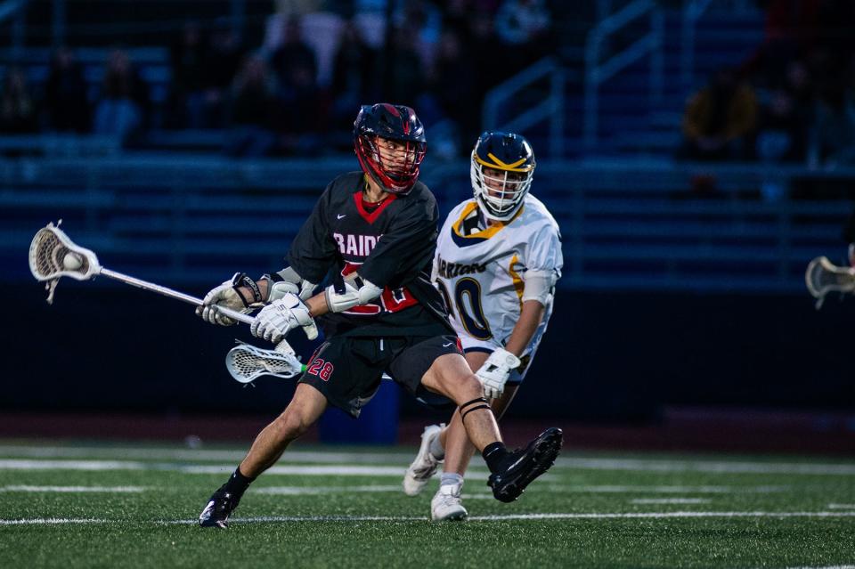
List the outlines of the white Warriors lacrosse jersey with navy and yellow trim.
<svg viewBox="0 0 855 569">
<path fill-rule="evenodd" d="M 511 220 L 486 225 L 475 199 L 468 199 L 445 219 L 432 276 L 464 351 L 493 352 L 517 325 L 525 272 L 555 272 L 558 280 L 563 265 L 558 224 L 541 200 L 528 194 Z M 523 354 L 524 368 L 546 331 L 551 298 Z"/>
</svg>

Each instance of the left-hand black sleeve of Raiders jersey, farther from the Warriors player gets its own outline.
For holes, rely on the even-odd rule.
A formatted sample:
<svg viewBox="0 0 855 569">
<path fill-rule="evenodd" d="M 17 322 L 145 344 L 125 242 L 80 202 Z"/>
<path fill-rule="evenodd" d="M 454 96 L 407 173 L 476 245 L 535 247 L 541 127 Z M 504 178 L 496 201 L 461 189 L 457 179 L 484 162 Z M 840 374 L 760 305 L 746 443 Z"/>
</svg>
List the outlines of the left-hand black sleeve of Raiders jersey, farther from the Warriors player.
<svg viewBox="0 0 855 569">
<path fill-rule="evenodd" d="M 288 252 L 288 264 L 309 282 L 321 282 L 335 261 L 338 250 L 330 236 L 326 215 L 331 185 L 327 186 L 321 199 L 314 205 L 312 214 L 297 232 Z"/>
</svg>

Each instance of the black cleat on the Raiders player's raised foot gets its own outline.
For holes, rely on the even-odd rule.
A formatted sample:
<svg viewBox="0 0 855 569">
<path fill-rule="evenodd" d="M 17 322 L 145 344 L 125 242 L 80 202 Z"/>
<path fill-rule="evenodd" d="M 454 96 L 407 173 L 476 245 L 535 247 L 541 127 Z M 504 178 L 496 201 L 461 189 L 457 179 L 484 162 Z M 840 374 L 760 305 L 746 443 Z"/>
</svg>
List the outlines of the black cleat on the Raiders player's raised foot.
<svg viewBox="0 0 855 569">
<path fill-rule="evenodd" d="M 493 488 L 496 500 L 512 502 L 519 498 L 525 486 L 550 469 L 561 450 L 563 433 L 550 427 L 537 436 L 525 449 L 517 449 L 493 473 L 487 485 Z"/>
</svg>

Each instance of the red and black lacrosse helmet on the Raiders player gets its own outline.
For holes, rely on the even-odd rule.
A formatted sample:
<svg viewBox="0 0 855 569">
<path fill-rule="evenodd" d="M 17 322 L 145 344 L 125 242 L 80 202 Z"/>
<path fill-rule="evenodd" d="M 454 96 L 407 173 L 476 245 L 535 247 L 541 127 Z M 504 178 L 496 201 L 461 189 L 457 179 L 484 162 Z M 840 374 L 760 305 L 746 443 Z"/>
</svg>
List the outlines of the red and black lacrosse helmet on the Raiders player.
<svg viewBox="0 0 855 569">
<path fill-rule="evenodd" d="M 380 154 L 377 139 L 399 142 L 394 159 Z M 419 178 L 419 166 L 428 143 L 416 111 L 404 105 L 380 102 L 362 105 L 354 121 L 354 149 L 365 174 L 392 193 L 406 194 Z"/>
</svg>

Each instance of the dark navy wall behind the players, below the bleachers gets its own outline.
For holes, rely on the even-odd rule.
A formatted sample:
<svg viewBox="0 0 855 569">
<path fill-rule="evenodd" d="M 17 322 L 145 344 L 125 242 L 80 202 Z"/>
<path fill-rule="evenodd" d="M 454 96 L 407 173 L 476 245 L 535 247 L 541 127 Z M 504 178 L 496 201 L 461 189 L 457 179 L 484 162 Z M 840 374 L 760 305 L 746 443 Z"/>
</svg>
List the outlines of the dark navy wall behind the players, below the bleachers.
<svg viewBox="0 0 855 569">
<path fill-rule="evenodd" d="M 228 376 L 224 354 L 253 339 L 247 327 L 208 326 L 187 305 L 103 281 L 62 282 L 53 306 L 35 283 L 5 290 L 0 409 L 273 413 L 289 400 L 289 383 Z M 816 312 L 807 295 L 561 291 L 511 412 L 645 421 L 666 405 L 851 408 L 842 331 L 855 303 L 831 300 Z"/>
</svg>

